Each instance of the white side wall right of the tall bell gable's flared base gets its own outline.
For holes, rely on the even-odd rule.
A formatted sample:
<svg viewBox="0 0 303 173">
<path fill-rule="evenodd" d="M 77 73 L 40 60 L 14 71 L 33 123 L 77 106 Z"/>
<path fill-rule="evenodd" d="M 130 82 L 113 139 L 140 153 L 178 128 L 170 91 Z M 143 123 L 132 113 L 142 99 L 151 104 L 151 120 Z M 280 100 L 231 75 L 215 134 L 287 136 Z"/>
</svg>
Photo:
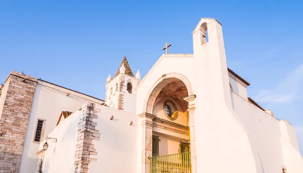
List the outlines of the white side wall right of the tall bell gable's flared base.
<svg viewBox="0 0 303 173">
<path fill-rule="evenodd" d="M 303 172 L 303 160 L 299 158 L 293 128 L 239 95 L 232 94 L 234 110 L 246 127 L 257 172 L 282 172 L 282 166 L 286 166 L 288 173 Z"/>
</svg>

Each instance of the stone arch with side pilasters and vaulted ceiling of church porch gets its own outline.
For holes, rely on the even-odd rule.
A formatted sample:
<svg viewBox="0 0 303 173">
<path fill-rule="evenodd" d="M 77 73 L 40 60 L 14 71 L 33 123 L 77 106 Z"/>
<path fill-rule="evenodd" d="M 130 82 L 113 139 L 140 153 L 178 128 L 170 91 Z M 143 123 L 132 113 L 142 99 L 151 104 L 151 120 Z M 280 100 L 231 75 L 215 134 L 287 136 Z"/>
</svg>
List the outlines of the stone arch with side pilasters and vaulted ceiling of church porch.
<svg viewBox="0 0 303 173">
<path fill-rule="evenodd" d="M 140 114 L 140 118 L 142 119 L 142 130 L 143 130 L 143 170 L 147 173 L 149 172 L 150 160 L 146 159 L 152 157 L 152 149 L 151 149 L 151 142 L 153 139 L 153 127 L 157 129 L 158 120 L 162 119 L 163 121 L 171 121 L 175 124 L 180 124 L 178 122 L 180 117 L 184 118 L 185 112 L 187 113 L 187 118 L 185 119 L 187 128 L 189 127 L 189 138 L 190 138 L 190 160 L 191 160 L 191 170 L 192 172 L 196 172 L 196 159 L 195 159 L 195 137 L 194 137 L 194 100 L 195 95 L 193 94 L 192 86 L 189 80 L 182 74 L 178 73 L 170 73 L 164 74 L 161 78 L 159 78 L 154 85 L 149 89 L 148 94 L 146 95 L 143 112 Z M 175 106 L 171 106 L 172 109 L 169 111 L 166 109 L 166 103 L 174 102 Z M 164 104 L 163 104 L 164 103 Z M 168 104 L 168 105 L 169 105 Z M 165 120 L 163 117 L 159 117 L 157 106 L 163 106 L 162 112 L 166 112 Z M 182 112 L 178 112 L 178 118 L 169 116 L 169 112 L 173 109 L 181 108 L 184 111 L 183 115 Z M 173 113 L 173 112 L 172 112 Z M 183 121 L 184 122 L 184 121 Z M 156 124 L 155 124 L 156 123 Z M 159 131 L 158 131 L 159 132 Z M 187 131 L 188 132 L 188 131 Z M 156 131 L 157 133 L 157 131 Z"/>
</svg>

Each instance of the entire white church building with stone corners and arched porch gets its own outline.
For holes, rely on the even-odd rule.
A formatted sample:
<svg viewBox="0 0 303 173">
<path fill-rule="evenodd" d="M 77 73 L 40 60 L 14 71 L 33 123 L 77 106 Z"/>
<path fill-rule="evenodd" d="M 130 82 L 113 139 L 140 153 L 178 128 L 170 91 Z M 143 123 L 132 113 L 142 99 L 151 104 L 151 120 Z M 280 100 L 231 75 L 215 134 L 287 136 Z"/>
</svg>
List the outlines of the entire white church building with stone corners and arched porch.
<svg viewBox="0 0 303 173">
<path fill-rule="evenodd" d="M 303 172 L 294 128 L 227 67 L 221 23 L 192 36 L 193 54 L 163 54 L 142 79 L 124 57 L 105 100 L 13 71 L 0 172 Z"/>
</svg>

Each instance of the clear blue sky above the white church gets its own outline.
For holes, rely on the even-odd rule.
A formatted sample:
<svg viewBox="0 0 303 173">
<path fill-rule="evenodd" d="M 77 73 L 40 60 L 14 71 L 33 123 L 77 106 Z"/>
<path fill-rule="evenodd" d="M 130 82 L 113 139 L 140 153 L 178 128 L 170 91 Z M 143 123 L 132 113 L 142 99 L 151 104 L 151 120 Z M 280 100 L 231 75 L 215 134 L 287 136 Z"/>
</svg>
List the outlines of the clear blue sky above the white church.
<svg viewBox="0 0 303 173">
<path fill-rule="evenodd" d="M 277 1 L 1 1 L 0 79 L 10 71 L 104 99 L 122 58 L 144 76 L 166 42 L 192 53 L 201 17 L 223 25 L 228 66 L 248 96 L 297 131 L 303 150 L 303 14 Z"/>
</svg>

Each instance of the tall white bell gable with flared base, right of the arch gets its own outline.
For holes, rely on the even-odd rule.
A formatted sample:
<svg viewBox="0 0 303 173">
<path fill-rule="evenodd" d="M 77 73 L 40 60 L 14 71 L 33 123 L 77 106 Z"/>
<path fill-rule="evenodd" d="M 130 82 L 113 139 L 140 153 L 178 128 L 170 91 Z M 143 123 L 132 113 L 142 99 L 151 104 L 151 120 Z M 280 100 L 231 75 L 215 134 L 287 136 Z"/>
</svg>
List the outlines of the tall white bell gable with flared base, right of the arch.
<svg viewBox="0 0 303 173">
<path fill-rule="evenodd" d="M 222 25 L 216 19 L 202 18 L 192 37 L 198 146 L 192 164 L 196 172 L 257 172 L 246 128 L 232 108 Z"/>
</svg>

